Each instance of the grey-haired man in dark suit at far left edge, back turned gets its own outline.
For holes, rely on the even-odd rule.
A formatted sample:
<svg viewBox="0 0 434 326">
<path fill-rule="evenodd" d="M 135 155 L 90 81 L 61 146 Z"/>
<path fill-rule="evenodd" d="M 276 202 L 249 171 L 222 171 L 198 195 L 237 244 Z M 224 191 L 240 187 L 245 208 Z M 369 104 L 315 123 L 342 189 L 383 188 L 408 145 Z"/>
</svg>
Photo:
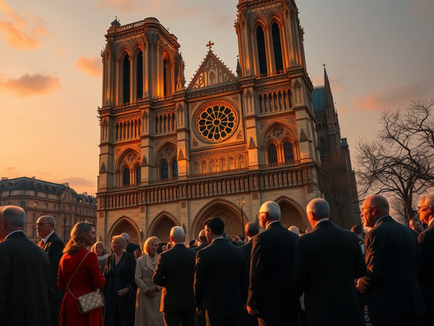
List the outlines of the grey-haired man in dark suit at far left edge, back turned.
<svg viewBox="0 0 434 326">
<path fill-rule="evenodd" d="M 50 260 L 24 235 L 24 225 L 22 208 L 0 207 L 0 325 L 50 326 Z"/>
</svg>

